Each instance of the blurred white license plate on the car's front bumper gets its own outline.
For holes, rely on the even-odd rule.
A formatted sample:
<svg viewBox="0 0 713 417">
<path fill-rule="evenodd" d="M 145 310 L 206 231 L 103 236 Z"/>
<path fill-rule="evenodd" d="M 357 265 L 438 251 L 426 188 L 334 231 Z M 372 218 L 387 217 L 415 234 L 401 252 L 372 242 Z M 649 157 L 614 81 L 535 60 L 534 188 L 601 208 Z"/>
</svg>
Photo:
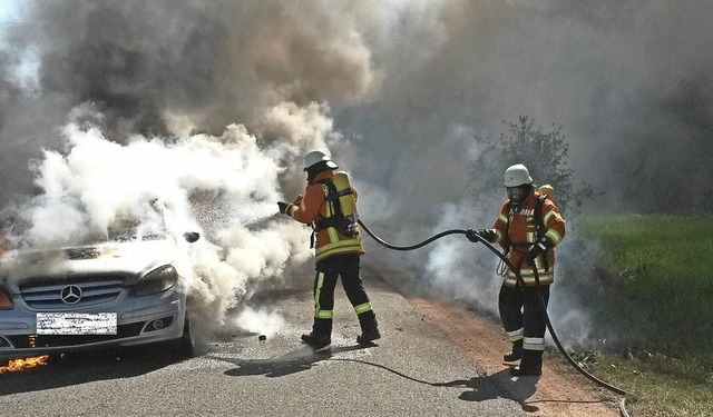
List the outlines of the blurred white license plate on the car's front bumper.
<svg viewBox="0 0 713 417">
<path fill-rule="evenodd" d="M 38 335 L 116 335 L 116 312 L 38 312 Z"/>
</svg>

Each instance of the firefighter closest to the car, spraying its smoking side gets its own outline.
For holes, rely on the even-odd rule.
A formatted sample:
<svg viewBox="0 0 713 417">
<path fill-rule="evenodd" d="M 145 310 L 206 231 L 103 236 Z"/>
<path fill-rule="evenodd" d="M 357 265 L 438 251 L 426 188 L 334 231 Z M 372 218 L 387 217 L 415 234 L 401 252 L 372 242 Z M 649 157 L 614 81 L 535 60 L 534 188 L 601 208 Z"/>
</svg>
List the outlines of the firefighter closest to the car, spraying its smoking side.
<svg viewBox="0 0 713 417">
<path fill-rule="evenodd" d="M 359 318 L 361 335 L 356 342 L 369 344 L 381 337 L 359 272 L 364 248 L 356 224 L 356 190 L 346 172 L 335 171 L 338 168 L 326 150 L 305 153 L 307 187 L 304 198 L 299 196 L 292 203 L 277 202 L 280 212 L 311 225 L 314 230 L 314 322 L 312 331 L 302 335 L 302 341 L 316 348 L 331 344 L 334 287 L 340 277 Z"/>
</svg>

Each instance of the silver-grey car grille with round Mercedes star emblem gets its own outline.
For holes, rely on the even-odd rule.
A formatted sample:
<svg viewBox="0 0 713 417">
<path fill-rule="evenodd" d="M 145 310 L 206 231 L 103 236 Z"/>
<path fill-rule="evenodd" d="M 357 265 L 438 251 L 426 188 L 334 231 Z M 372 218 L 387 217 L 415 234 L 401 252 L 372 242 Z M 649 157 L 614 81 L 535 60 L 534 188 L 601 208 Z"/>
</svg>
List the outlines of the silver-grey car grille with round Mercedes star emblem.
<svg viewBox="0 0 713 417">
<path fill-rule="evenodd" d="M 95 306 L 114 300 L 124 288 L 124 276 L 67 277 L 61 279 L 33 280 L 20 286 L 22 299 L 38 310 L 76 310 L 78 307 Z M 79 301 L 67 304 L 61 294 L 68 286 L 76 286 L 81 290 Z"/>
</svg>

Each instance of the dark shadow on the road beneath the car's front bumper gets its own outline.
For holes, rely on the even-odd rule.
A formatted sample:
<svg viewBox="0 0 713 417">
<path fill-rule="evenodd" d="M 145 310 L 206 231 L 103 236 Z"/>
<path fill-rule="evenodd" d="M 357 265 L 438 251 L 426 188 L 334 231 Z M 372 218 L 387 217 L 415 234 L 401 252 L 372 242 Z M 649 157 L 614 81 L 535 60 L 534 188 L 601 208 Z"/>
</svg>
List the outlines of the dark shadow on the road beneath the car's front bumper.
<svg viewBox="0 0 713 417">
<path fill-rule="evenodd" d="M 95 380 L 130 378 L 177 363 L 165 350 L 149 346 L 95 350 L 50 357 L 47 365 L 0 375 L 0 396 L 41 391 Z"/>
</svg>

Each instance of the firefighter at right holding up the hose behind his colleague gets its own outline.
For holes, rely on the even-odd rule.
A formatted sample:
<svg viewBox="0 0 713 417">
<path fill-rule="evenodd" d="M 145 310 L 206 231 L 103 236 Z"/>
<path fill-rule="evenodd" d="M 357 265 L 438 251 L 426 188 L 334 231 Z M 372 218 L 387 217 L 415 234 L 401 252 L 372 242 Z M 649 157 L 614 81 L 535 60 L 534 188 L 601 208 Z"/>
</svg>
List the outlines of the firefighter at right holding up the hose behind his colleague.
<svg viewBox="0 0 713 417">
<path fill-rule="evenodd" d="M 565 237 L 565 220 L 548 198 L 551 187 L 535 190 L 524 165 L 514 165 L 505 171 L 505 187 L 508 200 L 502 203 L 492 228 L 469 229 L 466 236 L 473 242 L 478 241 L 478 235 L 500 244 L 510 264 L 519 270 L 522 282 L 508 268 L 498 296 L 502 327 L 512 342 L 512 350 L 504 360 L 520 360 L 519 366 L 510 368 L 515 376 L 538 376 L 547 326 L 539 297 L 547 308 L 549 286 L 555 277 L 555 247 Z"/>
</svg>

